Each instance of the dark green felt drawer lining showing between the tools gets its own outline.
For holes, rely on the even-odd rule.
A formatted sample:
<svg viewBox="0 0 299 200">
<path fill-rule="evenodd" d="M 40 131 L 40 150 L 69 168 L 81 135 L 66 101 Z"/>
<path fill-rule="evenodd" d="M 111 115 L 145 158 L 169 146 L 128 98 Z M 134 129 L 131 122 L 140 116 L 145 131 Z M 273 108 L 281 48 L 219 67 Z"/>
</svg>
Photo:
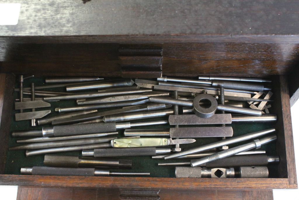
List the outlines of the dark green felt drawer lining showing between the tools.
<svg viewBox="0 0 299 200">
<path fill-rule="evenodd" d="M 31 78 L 26 79 L 24 82 L 24 87 L 30 87 L 31 82 L 34 82 L 36 86 L 44 85 L 44 79 L 42 78 Z M 19 88 L 19 83 L 16 82 L 16 88 Z M 65 91 L 64 88 L 51 88 L 45 89 L 45 91 L 58 91 L 62 92 Z M 24 97 L 30 97 L 30 95 L 24 95 Z M 19 98 L 19 93 L 14 93 L 14 98 Z M 38 97 L 37 97 L 38 98 Z M 13 102 L 12 102 L 13 103 Z M 61 100 L 59 102 L 49 102 L 51 103 L 51 114 L 48 116 L 57 115 L 58 112 L 55 112 L 55 108 L 57 107 L 67 107 L 67 106 L 75 106 L 75 100 Z M 47 110 L 50 108 L 42 108 L 36 110 Z M 114 109 L 114 108 L 113 108 Z M 117 108 L 115 108 L 117 109 Z M 102 111 L 108 109 L 101 109 Z M 29 110 L 28 110 L 29 111 Z M 28 112 L 25 110 L 25 112 Z M 18 111 L 17 111 L 18 112 Z M 14 114 L 15 111 L 12 112 L 12 122 L 10 126 L 10 130 L 33 130 L 33 129 L 41 129 L 40 126 L 37 127 L 30 127 L 30 121 L 15 121 Z M 156 121 L 156 120 L 167 120 L 167 117 L 164 118 L 153 118 L 148 120 L 138 120 L 138 121 Z M 136 122 L 138 122 L 136 121 Z M 51 126 L 51 125 L 48 125 Z M 234 130 L 234 136 L 239 136 L 245 133 L 252 133 L 260 130 L 265 130 L 269 128 L 273 128 L 273 123 L 234 123 L 231 124 Z M 154 129 L 154 128 L 169 128 L 169 125 L 158 125 L 158 126 L 147 126 L 147 127 L 134 127 L 135 129 Z M 132 128 L 133 129 L 133 128 Z M 119 131 L 119 136 L 123 136 L 123 131 Z M 19 138 L 18 138 L 19 139 Z M 9 138 L 8 146 L 16 146 L 19 145 L 16 143 L 16 138 L 11 137 Z M 218 141 L 219 138 L 196 138 L 196 142 L 188 145 L 181 145 L 182 148 L 191 148 L 196 147 L 204 144 L 208 144 L 211 142 Z M 246 142 L 242 142 L 239 144 L 243 144 Z M 230 147 L 235 145 L 230 145 Z M 264 145 L 260 150 L 266 150 L 267 155 L 277 155 L 275 149 L 275 142 L 270 144 Z M 57 153 L 60 155 L 81 155 L 81 151 L 74 151 L 74 152 L 65 152 L 65 153 Z M 5 174 L 20 174 L 21 167 L 31 167 L 31 166 L 43 166 L 43 159 L 44 155 L 37 155 L 37 156 L 30 156 L 26 157 L 25 150 L 19 151 L 7 151 L 7 158 L 5 164 Z M 151 159 L 149 156 L 138 156 L 138 157 L 123 157 L 123 158 L 130 158 L 133 160 L 132 169 L 125 170 L 125 169 L 111 169 L 111 171 L 117 172 L 126 172 L 126 171 L 134 171 L 134 172 L 150 172 L 150 177 L 174 177 L 174 166 L 158 166 L 157 163 L 159 162 L 183 162 L 187 161 L 185 159 L 170 159 L 170 160 L 160 160 L 160 159 Z M 270 166 L 270 177 L 277 178 L 277 167 L 275 165 Z"/>
</svg>

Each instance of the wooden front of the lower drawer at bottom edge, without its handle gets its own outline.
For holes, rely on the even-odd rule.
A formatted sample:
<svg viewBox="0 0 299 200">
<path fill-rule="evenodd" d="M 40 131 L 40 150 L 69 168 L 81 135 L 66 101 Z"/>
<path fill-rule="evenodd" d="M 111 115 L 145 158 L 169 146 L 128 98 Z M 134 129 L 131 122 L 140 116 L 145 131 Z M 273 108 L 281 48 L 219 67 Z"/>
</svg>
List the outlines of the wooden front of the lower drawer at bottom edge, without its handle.
<svg viewBox="0 0 299 200">
<path fill-rule="evenodd" d="M 133 188 L 132 188 L 133 189 Z M 121 199 L 119 190 L 107 188 L 80 189 L 80 188 L 41 188 L 19 187 L 17 200 L 81 200 L 81 199 Z M 272 190 L 161 190 L 155 199 L 181 200 L 181 199 L 210 199 L 210 200 L 271 200 Z M 154 199 L 152 196 L 127 198 L 138 200 Z"/>
</svg>

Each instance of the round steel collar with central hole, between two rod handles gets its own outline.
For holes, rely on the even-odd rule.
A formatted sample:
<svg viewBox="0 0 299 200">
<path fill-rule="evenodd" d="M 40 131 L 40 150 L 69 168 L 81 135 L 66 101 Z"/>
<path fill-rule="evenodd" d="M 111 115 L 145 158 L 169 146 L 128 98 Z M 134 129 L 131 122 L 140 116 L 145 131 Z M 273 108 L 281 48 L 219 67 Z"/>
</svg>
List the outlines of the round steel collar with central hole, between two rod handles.
<svg viewBox="0 0 299 200">
<path fill-rule="evenodd" d="M 193 112 L 198 117 L 209 118 L 215 114 L 217 105 L 218 103 L 212 95 L 199 94 L 193 100 Z"/>
</svg>

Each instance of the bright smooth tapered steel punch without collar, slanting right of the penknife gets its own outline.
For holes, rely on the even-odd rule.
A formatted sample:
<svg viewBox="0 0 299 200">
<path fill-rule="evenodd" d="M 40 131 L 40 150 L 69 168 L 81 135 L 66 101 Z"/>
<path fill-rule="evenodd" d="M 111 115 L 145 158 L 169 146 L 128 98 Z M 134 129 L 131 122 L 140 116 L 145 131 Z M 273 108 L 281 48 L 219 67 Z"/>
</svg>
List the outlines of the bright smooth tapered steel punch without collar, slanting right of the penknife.
<svg viewBox="0 0 299 200">
<path fill-rule="evenodd" d="M 224 145 L 230 145 L 230 144 L 234 144 L 234 143 L 237 143 L 237 142 L 242 142 L 242 141 L 245 141 L 245 140 L 253 139 L 253 138 L 256 138 L 256 137 L 259 137 L 259 136 L 263 136 L 263 135 L 266 135 L 266 134 L 269 134 L 269 133 L 273 133 L 274 131 L 275 131 L 275 129 L 271 128 L 271 129 L 267 129 L 267 130 L 257 131 L 257 132 L 254 132 L 254 133 L 248 133 L 248 134 L 245 134 L 245 135 L 242 135 L 242 136 L 237 136 L 237 137 L 229 138 L 229 139 L 218 141 L 218 142 L 213 142 L 213 143 L 208 144 L 208 145 L 203 145 L 203 146 L 200 146 L 200 147 L 190 148 L 186 151 L 181 151 L 181 152 L 178 152 L 178 153 L 168 155 L 164 159 L 167 160 L 167 159 L 177 158 L 177 157 L 181 157 L 181 156 L 185 156 L 185 155 L 189 155 L 189 154 L 196 154 L 196 153 L 199 153 L 199 152 L 208 151 L 209 149 L 212 149 L 212 148 L 218 148 L 218 147 L 221 147 L 221 146 L 224 146 Z"/>
</svg>

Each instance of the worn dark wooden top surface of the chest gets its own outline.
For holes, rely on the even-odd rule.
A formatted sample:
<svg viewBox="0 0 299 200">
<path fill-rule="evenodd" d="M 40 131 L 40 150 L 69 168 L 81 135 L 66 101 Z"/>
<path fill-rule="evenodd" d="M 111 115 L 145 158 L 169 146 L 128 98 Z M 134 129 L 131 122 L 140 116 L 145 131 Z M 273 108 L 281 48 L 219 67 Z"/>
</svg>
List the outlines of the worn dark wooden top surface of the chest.
<svg viewBox="0 0 299 200">
<path fill-rule="evenodd" d="M 11 3 L 2 0 L 1 3 Z M 150 34 L 299 34 L 296 0 L 15 0 L 17 25 L 2 36 Z"/>
</svg>

